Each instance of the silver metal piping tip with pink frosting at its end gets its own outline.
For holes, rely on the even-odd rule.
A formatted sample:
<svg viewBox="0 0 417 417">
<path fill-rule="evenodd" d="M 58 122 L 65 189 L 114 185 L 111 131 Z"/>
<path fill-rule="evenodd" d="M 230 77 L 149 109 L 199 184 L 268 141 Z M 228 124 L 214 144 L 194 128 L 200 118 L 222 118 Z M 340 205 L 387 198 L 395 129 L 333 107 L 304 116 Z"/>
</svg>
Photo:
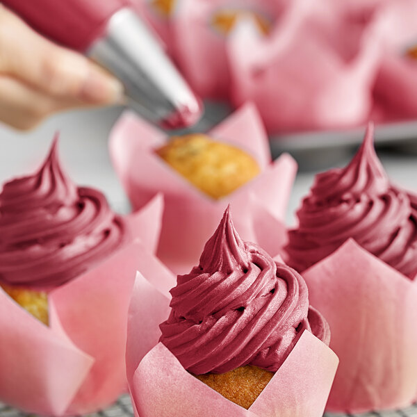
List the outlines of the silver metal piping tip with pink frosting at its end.
<svg viewBox="0 0 417 417">
<path fill-rule="evenodd" d="M 124 83 L 127 105 L 152 122 L 179 129 L 201 117 L 202 102 L 133 10 L 115 13 L 88 55 Z"/>
</svg>

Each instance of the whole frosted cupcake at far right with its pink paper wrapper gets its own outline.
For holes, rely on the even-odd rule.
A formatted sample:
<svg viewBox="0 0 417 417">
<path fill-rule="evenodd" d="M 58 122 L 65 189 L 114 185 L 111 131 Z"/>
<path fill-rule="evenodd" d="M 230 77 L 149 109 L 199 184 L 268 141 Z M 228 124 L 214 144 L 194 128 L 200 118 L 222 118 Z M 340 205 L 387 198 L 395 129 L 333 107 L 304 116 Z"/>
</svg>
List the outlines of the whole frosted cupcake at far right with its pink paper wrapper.
<svg viewBox="0 0 417 417">
<path fill-rule="evenodd" d="M 327 409 L 408 407 L 417 398 L 416 197 L 389 181 L 372 125 L 347 167 L 318 174 L 297 215 L 288 263 L 303 271 L 340 359 Z"/>
</svg>

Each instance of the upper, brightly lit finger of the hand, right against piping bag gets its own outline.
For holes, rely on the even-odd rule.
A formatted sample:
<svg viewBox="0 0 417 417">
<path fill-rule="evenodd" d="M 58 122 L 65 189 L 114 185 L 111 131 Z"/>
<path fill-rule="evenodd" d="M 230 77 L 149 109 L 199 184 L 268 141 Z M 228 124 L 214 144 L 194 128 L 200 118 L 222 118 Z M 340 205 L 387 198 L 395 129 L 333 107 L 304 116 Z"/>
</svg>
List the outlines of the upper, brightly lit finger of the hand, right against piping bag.
<svg viewBox="0 0 417 417">
<path fill-rule="evenodd" d="M 121 100 L 123 86 L 74 51 L 58 47 L 0 6 L 0 73 L 61 99 L 86 104 Z"/>
</svg>

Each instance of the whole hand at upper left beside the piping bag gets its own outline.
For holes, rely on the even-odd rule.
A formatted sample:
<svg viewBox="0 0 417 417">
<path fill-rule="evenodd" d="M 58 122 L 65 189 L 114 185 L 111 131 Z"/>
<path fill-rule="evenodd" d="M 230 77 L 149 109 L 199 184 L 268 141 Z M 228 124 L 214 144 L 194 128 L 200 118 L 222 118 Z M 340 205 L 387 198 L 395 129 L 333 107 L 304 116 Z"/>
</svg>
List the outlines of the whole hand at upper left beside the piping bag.
<svg viewBox="0 0 417 417">
<path fill-rule="evenodd" d="M 0 4 L 0 121 L 31 129 L 51 113 L 122 100 L 123 85 L 81 54 L 42 38 Z"/>
</svg>

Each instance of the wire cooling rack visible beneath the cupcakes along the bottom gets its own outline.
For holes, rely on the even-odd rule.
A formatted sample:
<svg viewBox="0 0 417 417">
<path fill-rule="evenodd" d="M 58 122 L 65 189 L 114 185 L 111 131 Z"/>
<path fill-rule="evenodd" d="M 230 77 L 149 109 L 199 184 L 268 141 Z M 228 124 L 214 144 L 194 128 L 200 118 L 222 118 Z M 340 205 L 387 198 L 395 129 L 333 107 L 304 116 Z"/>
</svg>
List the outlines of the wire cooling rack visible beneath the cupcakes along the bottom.
<svg viewBox="0 0 417 417">
<path fill-rule="evenodd" d="M 0 417 L 35 417 L 33 414 L 25 414 L 17 409 L 0 403 Z M 123 395 L 111 407 L 85 417 L 133 417 L 133 408 L 129 395 Z M 187 416 L 184 416 L 187 417 Z M 202 416 L 203 417 L 203 416 Z M 325 414 L 324 417 L 417 417 L 417 404 L 396 411 L 377 413 L 372 411 L 366 414 Z"/>
</svg>

